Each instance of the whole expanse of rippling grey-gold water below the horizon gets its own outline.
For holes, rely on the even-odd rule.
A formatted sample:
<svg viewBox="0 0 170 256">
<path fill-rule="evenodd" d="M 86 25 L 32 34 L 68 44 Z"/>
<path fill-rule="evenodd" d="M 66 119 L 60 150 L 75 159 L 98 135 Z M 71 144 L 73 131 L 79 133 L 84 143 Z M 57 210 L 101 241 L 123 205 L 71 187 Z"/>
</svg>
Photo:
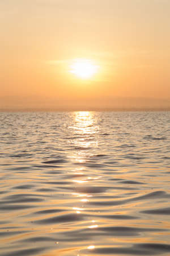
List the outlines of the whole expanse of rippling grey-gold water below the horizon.
<svg viewBox="0 0 170 256">
<path fill-rule="evenodd" d="M 170 112 L 1 113 L 0 255 L 170 255 Z"/>
</svg>

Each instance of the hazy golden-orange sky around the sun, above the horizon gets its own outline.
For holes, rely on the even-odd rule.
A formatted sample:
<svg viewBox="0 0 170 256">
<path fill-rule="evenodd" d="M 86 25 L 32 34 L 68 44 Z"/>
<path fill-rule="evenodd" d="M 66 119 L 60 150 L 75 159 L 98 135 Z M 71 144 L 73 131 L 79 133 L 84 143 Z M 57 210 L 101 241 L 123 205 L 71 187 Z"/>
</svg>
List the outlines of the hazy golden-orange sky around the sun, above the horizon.
<svg viewBox="0 0 170 256">
<path fill-rule="evenodd" d="M 0 31 L 1 107 L 170 100 L 169 0 L 1 0 Z"/>
</svg>

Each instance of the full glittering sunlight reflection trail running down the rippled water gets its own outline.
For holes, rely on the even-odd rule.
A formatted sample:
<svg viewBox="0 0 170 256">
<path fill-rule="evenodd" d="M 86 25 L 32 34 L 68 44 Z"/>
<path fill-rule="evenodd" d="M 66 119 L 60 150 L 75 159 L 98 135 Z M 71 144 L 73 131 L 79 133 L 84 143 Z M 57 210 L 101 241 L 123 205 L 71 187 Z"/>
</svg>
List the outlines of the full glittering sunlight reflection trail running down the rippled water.
<svg viewBox="0 0 170 256">
<path fill-rule="evenodd" d="M 101 178 L 99 174 L 88 175 L 88 164 L 91 163 L 91 148 L 96 148 L 99 143 L 96 136 L 99 126 L 96 122 L 95 113 L 74 112 L 73 126 L 69 127 L 69 129 L 70 133 L 73 133 L 69 143 L 71 144 L 71 147 L 74 148 L 74 150 L 71 151 L 70 160 L 73 163 L 73 166 L 75 166 L 72 170 L 75 174 L 75 177 L 72 180 L 75 183 L 75 192 L 73 192 L 72 195 L 75 197 L 83 197 L 79 201 L 75 201 L 73 210 L 75 214 L 81 214 L 82 210 L 85 212 L 88 210 L 88 208 L 86 208 L 87 205 L 84 205 L 84 203 L 88 204 L 88 199 L 92 197 L 91 193 L 84 193 L 84 191 L 88 191 L 88 187 L 91 187 L 96 180 Z M 94 222 L 96 221 L 91 220 L 92 225 L 86 223 L 87 228 L 98 228 L 98 225 Z M 94 245 L 88 246 L 89 250 L 94 248 Z"/>
</svg>

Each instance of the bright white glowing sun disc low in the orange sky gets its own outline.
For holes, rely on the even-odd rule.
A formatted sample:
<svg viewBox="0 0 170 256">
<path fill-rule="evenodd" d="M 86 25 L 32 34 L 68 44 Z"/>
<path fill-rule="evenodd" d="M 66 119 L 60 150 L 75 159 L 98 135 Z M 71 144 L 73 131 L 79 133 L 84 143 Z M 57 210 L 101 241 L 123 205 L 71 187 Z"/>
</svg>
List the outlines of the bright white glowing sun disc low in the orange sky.
<svg viewBox="0 0 170 256">
<path fill-rule="evenodd" d="M 70 68 L 70 72 L 74 75 L 82 79 L 89 79 L 97 73 L 99 67 L 95 65 L 92 60 L 75 59 L 70 65 Z"/>
</svg>

